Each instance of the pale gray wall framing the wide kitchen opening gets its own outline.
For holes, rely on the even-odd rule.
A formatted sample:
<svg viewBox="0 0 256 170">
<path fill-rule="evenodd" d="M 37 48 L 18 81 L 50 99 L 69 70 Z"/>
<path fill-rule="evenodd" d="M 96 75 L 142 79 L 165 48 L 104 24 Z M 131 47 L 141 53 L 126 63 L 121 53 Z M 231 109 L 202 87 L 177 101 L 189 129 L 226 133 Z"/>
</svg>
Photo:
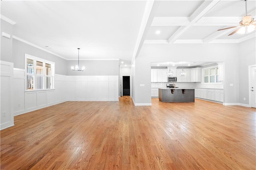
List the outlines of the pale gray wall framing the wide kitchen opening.
<svg viewBox="0 0 256 170">
<path fill-rule="evenodd" d="M 254 48 L 255 47 L 250 47 Z M 151 103 L 151 62 L 225 62 L 224 102 L 238 103 L 238 44 L 144 44 L 136 58 L 135 103 Z M 145 84 L 141 87 L 140 84 Z M 233 84 L 234 86 L 230 86 Z M 137 98 L 138 97 L 138 98 Z"/>
</svg>

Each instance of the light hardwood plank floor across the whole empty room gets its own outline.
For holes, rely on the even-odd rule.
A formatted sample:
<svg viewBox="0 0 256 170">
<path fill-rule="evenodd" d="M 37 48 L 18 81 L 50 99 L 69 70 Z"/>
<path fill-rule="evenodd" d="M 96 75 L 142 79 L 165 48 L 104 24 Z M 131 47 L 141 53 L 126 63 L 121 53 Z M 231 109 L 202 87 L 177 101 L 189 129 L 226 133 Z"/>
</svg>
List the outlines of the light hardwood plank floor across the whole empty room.
<svg viewBox="0 0 256 170">
<path fill-rule="evenodd" d="M 256 169 L 256 109 L 65 102 L 1 130 L 1 169 Z"/>
</svg>

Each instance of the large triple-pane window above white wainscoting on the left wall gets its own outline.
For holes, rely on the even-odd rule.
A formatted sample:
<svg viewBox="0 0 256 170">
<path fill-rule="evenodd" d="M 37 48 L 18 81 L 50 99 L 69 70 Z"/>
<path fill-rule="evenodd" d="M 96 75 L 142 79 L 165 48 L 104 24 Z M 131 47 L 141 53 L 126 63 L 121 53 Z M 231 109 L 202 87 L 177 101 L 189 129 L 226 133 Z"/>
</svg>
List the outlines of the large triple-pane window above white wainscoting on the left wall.
<svg viewBox="0 0 256 170">
<path fill-rule="evenodd" d="M 26 90 L 53 89 L 54 66 L 51 61 L 25 54 Z"/>
</svg>

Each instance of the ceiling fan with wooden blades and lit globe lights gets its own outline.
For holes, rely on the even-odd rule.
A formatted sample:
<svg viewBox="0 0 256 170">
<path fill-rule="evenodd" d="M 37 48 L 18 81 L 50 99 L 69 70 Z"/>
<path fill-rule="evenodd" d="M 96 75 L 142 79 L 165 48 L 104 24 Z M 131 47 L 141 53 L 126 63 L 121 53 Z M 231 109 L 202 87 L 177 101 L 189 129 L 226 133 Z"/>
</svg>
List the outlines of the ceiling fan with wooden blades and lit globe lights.
<svg viewBox="0 0 256 170">
<path fill-rule="evenodd" d="M 254 18 L 252 18 L 251 15 L 247 15 L 247 0 L 243 0 L 245 1 L 245 12 L 246 12 L 246 15 L 243 16 L 243 19 L 242 21 L 239 22 L 239 26 L 233 26 L 233 27 L 228 27 L 228 28 L 223 28 L 223 29 L 220 29 L 218 31 L 221 31 L 221 30 L 228 30 L 228 29 L 231 29 L 231 28 L 238 28 L 236 30 L 234 30 L 232 33 L 230 33 L 228 36 L 231 36 L 233 34 L 235 34 L 236 32 L 240 32 L 240 33 L 249 33 L 249 32 L 252 32 L 256 29 L 256 21 L 254 21 Z"/>
</svg>

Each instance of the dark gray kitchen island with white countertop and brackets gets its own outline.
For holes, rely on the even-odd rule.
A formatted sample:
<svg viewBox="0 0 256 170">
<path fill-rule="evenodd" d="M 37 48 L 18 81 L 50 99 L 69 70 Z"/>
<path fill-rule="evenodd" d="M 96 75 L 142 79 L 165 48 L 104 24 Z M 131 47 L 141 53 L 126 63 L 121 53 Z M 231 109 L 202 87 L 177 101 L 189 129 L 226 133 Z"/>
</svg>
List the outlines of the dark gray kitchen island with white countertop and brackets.
<svg viewBox="0 0 256 170">
<path fill-rule="evenodd" d="M 159 101 L 162 102 L 195 102 L 195 89 L 160 88 Z"/>
</svg>

